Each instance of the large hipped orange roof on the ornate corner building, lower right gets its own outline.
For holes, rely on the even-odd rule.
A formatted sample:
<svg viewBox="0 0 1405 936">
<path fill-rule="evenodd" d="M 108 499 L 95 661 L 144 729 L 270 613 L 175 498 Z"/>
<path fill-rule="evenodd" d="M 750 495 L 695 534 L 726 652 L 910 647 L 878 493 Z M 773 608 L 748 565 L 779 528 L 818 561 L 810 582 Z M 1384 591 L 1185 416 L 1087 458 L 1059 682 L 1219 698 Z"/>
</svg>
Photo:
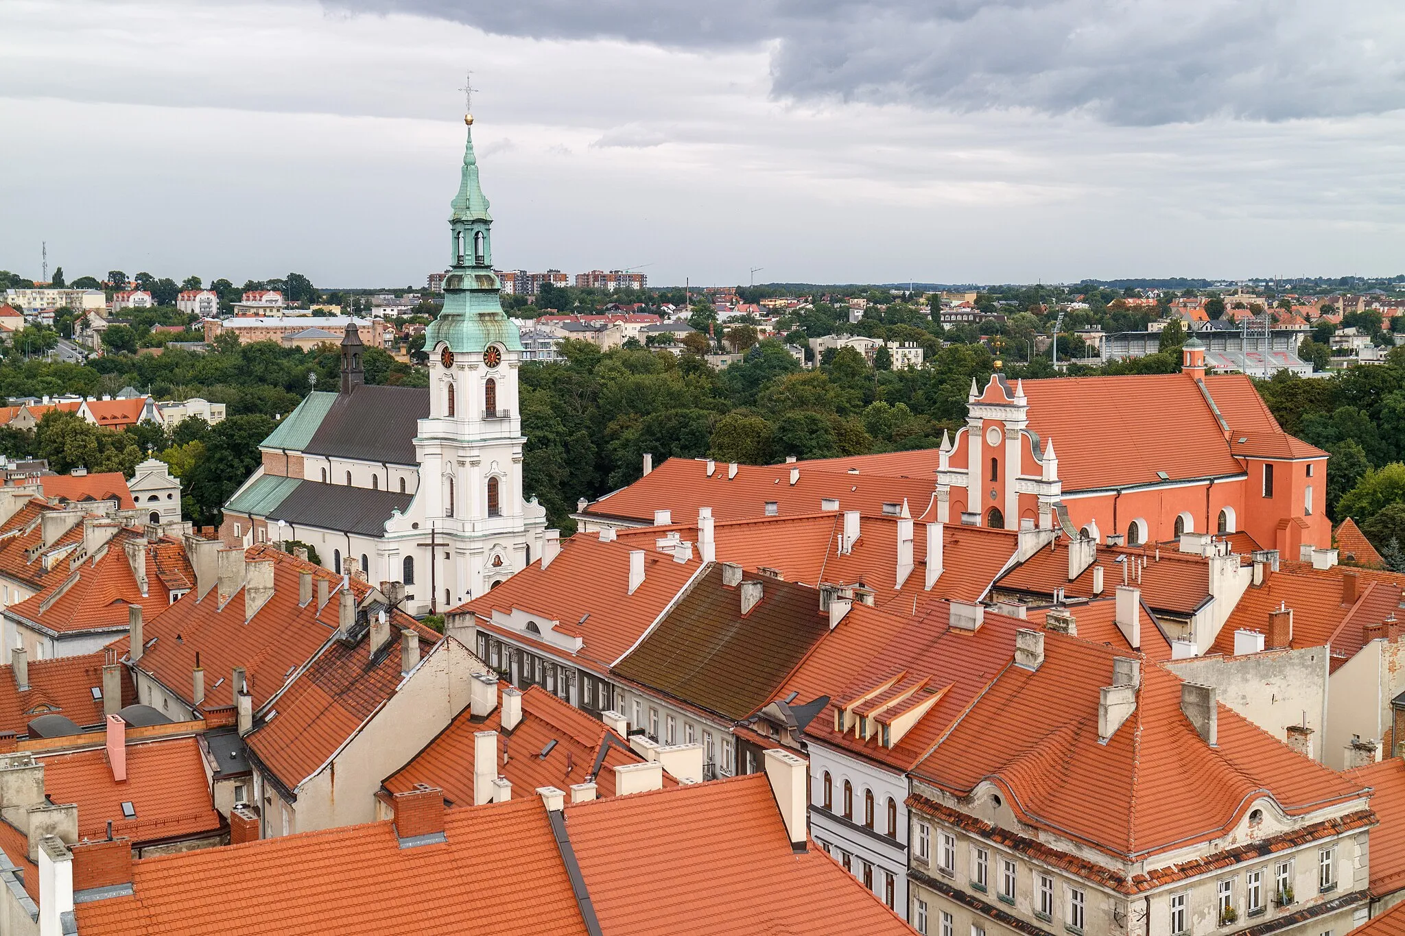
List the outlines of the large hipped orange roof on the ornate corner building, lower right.
<svg viewBox="0 0 1405 936">
<path fill-rule="evenodd" d="M 1021 822 L 1125 862 L 1220 838 L 1260 796 L 1293 817 L 1366 805 L 1360 783 L 1224 704 L 1211 748 L 1182 713 L 1182 681 L 1155 664 L 1141 667 L 1132 714 L 1100 742 L 1100 689 L 1120 654 L 1048 631 L 1044 651 L 1037 671 L 1007 668 L 913 776 L 957 797 L 996 783 Z"/>
</svg>

